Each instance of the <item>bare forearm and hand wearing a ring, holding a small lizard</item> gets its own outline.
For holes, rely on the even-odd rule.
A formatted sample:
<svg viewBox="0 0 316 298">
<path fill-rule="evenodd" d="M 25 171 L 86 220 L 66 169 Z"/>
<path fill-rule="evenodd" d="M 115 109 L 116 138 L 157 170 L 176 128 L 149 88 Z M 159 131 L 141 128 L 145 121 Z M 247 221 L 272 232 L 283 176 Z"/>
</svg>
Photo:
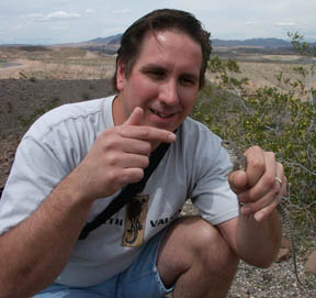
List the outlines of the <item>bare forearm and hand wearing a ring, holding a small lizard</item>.
<svg viewBox="0 0 316 298">
<path fill-rule="evenodd" d="M 218 228 L 238 257 L 248 264 L 268 267 L 280 249 L 282 228 L 275 207 L 286 194 L 286 178 L 273 153 L 255 146 L 245 155 L 248 156 L 247 170 L 229 175 L 230 187 L 244 206 L 238 218 Z M 281 177 L 282 188 L 275 176 Z"/>
</svg>

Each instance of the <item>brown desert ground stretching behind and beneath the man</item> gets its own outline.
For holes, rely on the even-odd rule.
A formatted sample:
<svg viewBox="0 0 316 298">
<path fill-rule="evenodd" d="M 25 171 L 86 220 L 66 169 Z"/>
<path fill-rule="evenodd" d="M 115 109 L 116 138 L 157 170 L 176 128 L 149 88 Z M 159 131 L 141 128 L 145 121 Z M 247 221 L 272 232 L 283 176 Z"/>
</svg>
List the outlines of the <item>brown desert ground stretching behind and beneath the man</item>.
<svg viewBox="0 0 316 298">
<path fill-rule="evenodd" d="M 293 67 L 298 66 L 298 60 L 294 55 L 244 55 L 238 62 L 242 73 L 239 76 L 248 77 L 247 88 L 253 90 L 263 86 L 282 89 L 275 76 L 282 71 L 284 77 L 296 78 Z M 56 106 L 112 93 L 114 65 L 115 56 L 81 48 L 0 47 L 0 188 L 27 126 Z M 207 74 L 207 78 L 216 82 L 214 74 Z M 188 205 L 184 212 L 194 209 Z M 241 263 L 228 297 L 316 297 L 316 276 L 304 268 L 308 254 L 316 249 L 316 232 L 296 227 L 295 235 L 300 241 L 298 274 L 305 289 L 297 286 L 287 254 L 268 269 Z"/>
</svg>

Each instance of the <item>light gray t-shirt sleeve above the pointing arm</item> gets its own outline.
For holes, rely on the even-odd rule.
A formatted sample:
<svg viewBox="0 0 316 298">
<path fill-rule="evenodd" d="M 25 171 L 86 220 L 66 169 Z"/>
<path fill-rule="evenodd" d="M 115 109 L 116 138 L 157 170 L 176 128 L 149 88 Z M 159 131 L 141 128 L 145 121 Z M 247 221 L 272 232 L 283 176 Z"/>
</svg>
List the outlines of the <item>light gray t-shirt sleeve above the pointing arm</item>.
<svg viewBox="0 0 316 298">
<path fill-rule="evenodd" d="M 0 200 L 0 233 L 27 218 L 65 175 L 66 169 L 47 144 L 24 137 Z"/>
</svg>

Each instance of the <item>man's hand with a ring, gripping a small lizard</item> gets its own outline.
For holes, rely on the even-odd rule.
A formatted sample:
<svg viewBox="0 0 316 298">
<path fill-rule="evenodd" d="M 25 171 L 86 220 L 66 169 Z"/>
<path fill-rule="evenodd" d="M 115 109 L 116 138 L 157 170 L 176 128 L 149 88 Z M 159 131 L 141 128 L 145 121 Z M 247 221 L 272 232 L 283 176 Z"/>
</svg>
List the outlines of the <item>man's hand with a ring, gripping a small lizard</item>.
<svg viewBox="0 0 316 298">
<path fill-rule="evenodd" d="M 233 191 L 244 205 L 241 213 L 253 214 L 257 221 L 261 221 L 271 214 L 281 198 L 286 195 L 286 177 L 283 166 L 275 162 L 272 152 L 252 146 L 245 152 L 245 156 L 248 162 L 246 172 L 233 172 L 228 180 Z"/>
</svg>

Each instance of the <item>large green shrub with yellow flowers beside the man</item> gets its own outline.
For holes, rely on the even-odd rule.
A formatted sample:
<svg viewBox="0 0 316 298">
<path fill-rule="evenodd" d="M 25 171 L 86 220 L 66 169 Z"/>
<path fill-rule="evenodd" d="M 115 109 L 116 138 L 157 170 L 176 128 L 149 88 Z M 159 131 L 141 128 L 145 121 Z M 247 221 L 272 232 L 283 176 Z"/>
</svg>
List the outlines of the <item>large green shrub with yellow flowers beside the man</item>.
<svg viewBox="0 0 316 298">
<path fill-rule="evenodd" d="M 304 80 L 297 85 L 282 80 L 282 89 L 264 87 L 250 95 L 244 88 L 248 80 L 234 77 L 239 73 L 234 64 L 218 57 L 210 60 L 208 69 L 217 74 L 219 82 L 205 86 L 192 117 L 242 150 L 256 144 L 273 151 L 289 179 L 286 202 L 292 216 L 315 223 L 316 109 L 294 90 L 297 85 L 304 89 Z"/>
</svg>

